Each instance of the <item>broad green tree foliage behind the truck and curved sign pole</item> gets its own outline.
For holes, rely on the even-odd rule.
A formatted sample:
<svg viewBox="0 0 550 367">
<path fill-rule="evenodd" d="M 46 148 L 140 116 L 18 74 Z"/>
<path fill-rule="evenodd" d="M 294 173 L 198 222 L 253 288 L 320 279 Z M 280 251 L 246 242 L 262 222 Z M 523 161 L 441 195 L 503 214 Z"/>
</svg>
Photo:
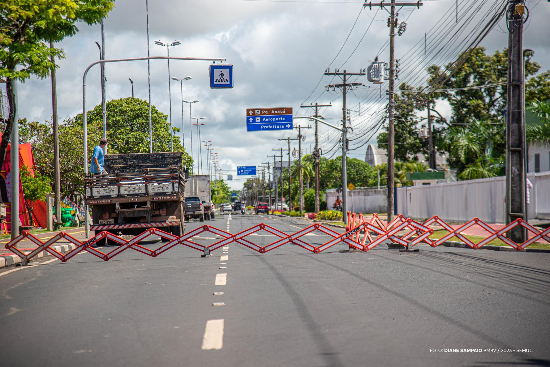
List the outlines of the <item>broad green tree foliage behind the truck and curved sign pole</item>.
<svg viewBox="0 0 550 367">
<path fill-rule="evenodd" d="M 170 151 L 170 127 L 167 115 L 151 106 L 153 151 Z M 88 157 L 103 136 L 101 105 L 88 112 Z M 38 172 L 53 183 L 53 127 L 47 121 L 20 120 L 20 141 L 31 143 Z M 144 133 L 146 132 L 146 134 Z M 177 131 L 177 130 L 175 130 Z M 107 138 L 109 154 L 149 152 L 149 105 L 138 98 L 121 98 L 107 102 Z M 74 198 L 83 193 L 83 122 L 82 114 L 59 124 L 59 161 L 61 162 L 62 194 Z M 174 135 L 174 150 L 184 151 L 178 135 Z M 89 166 L 87 163 L 87 166 Z M 193 160 L 185 153 L 183 165 L 191 167 Z"/>
</svg>

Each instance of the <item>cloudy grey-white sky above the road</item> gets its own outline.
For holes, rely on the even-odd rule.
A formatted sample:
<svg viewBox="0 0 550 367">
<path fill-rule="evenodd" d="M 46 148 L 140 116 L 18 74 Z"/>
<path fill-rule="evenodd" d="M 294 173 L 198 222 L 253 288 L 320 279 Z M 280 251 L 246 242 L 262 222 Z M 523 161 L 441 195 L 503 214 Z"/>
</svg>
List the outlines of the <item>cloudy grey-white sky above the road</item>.
<svg viewBox="0 0 550 367">
<path fill-rule="evenodd" d="M 459 0 L 456 23 L 455 0 L 425 0 L 420 9 L 408 7 L 399 11 L 399 21 L 406 22 L 403 35 L 396 37 L 395 57 L 400 59 L 399 82 L 423 85 L 425 68 L 444 65 L 467 48 L 488 18 L 501 8 L 504 0 Z M 543 70 L 550 69 L 550 3 L 527 0 L 531 19 L 525 29 L 524 47 L 535 50 L 534 60 Z M 278 139 L 296 132 L 246 132 L 245 108 L 293 107 L 295 116 L 312 114 L 301 104 L 326 104 L 321 109 L 328 122 L 342 119 L 342 96 L 338 90 L 326 91 L 325 85 L 341 83 L 324 76 L 330 68 L 357 73 L 378 56 L 387 61 L 389 29 L 385 10 L 364 9 L 357 0 L 149 0 L 151 56 L 165 56 L 166 47 L 155 45 L 181 41 L 171 47 L 171 56 L 226 58 L 234 65 L 233 89 L 210 89 L 208 62 L 173 61 L 171 76 L 193 79 L 183 84 L 184 100 L 199 100 L 193 105 L 193 117 L 205 117 L 202 140 L 211 140 L 218 152 L 224 176 L 233 174 L 237 166 L 260 166 L 272 155 L 272 148 L 285 147 Z M 84 69 L 98 59 L 95 41 L 101 42 L 99 25 L 79 25 L 79 33 L 58 46 L 67 58 L 59 61 L 58 103 L 61 119 L 81 112 L 81 83 Z M 507 46 L 504 18 L 481 42 L 491 52 Z M 426 34 L 426 54 L 425 48 Z M 145 0 L 117 0 L 105 20 L 106 58 L 147 56 Z M 135 96 L 147 100 L 147 62 L 107 64 L 107 98 L 131 95 L 134 80 Z M 350 157 L 364 158 L 366 144 L 376 141 L 386 103 L 385 88 L 368 83 L 365 77 L 351 81 L 364 83 L 348 94 L 351 109 Z M 182 126 L 180 83 L 172 81 L 172 121 Z M 100 69 L 92 68 L 87 79 L 90 109 L 101 103 Z M 30 79 L 19 87 L 21 118 L 51 118 L 50 80 Z M 169 113 L 168 68 L 166 61 L 151 62 L 151 100 L 162 112 Z M 448 117 L 445 103 L 437 109 Z M 301 121 L 301 122 L 300 122 Z M 295 120 L 306 125 L 306 120 Z M 184 106 L 183 129 L 185 148 L 191 150 L 189 106 Z M 338 155 L 338 136 L 320 127 L 323 155 Z M 336 132 L 336 130 L 333 130 Z M 312 129 L 306 130 L 302 145 L 311 151 Z M 193 153 L 196 159 L 196 130 L 193 130 Z M 297 144 L 292 144 L 291 149 Z M 206 151 L 203 149 L 206 173 Z M 272 161 L 272 159 L 270 160 Z M 242 180 L 234 180 L 232 188 L 240 189 Z"/>
</svg>

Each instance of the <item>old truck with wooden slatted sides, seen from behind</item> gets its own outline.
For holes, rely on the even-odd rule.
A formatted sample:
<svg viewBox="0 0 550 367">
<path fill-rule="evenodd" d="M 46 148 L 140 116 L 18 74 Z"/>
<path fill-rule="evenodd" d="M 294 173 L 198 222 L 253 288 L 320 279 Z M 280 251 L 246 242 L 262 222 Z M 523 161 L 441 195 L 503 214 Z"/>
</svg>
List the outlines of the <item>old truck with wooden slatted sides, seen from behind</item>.
<svg viewBox="0 0 550 367">
<path fill-rule="evenodd" d="M 92 206 L 90 229 L 96 234 L 138 235 L 156 227 L 183 234 L 186 171 L 181 168 L 182 155 L 106 155 L 104 167 L 109 173 L 84 177 L 85 201 Z"/>
</svg>

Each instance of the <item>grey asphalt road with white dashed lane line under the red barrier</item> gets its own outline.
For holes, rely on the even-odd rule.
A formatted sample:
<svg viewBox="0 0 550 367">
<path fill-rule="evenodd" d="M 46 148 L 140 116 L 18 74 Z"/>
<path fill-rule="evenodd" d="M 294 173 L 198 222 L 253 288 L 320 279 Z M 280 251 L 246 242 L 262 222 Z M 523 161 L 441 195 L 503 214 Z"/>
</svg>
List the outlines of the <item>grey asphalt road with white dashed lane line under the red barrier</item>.
<svg viewBox="0 0 550 367">
<path fill-rule="evenodd" d="M 265 215 L 205 223 L 237 233 L 262 222 L 287 233 L 309 224 Z M 550 365 L 550 254 L 386 245 L 339 253 L 345 248 L 313 254 L 286 244 L 262 255 L 230 244 L 227 254 L 200 258 L 181 246 L 158 258 L 127 250 L 108 262 L 79 254 L 4 269 L 1 364 Z"/>
</svg>

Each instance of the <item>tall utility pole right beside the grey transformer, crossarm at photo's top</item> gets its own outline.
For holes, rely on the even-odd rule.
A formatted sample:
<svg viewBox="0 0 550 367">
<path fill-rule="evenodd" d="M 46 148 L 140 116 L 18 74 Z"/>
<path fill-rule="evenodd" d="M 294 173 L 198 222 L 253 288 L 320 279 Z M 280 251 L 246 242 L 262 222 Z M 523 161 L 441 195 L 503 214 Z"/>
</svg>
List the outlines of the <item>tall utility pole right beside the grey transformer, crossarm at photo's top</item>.
<svg viewBox="0 0 550 367">
<path fill-rule="evenodd" d="M 394 160 L 395 160 L 395 127 L 394 127 L 394 114 L 395 114 L 395 27 L 397 26 L 399 13 L 395 13 L 395 0 L 391 0 L 391 3 L 365 3 L 363 7 L 372 9 L 372 6 L 386 9 L 390 7 L 388 27 L 389 27 L 389 81 L 388 81 L 388 222 L 393 220 L 395 203 L 394 203 Z M 416 3 L 397 3 L 397 6 L 403 7 L 420 7 L 423 4 L 419 1 Z M 345 107 L 344 107 L 345 108 Z M 345 196 L 344 196 L 345 198 Z"/>
</svg>

